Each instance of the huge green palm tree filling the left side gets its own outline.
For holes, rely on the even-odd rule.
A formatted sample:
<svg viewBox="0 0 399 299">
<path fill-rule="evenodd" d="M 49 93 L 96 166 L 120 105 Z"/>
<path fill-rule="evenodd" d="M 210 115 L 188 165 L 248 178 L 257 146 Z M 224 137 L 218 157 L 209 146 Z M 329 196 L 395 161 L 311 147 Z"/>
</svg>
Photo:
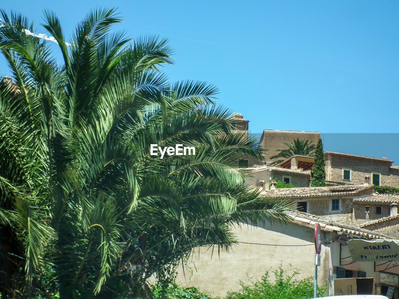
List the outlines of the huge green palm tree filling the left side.
<svg viewBox="0 0 399 299">
<path fill-rule="evenodd" d="M 147 279 L 168 276 L 194 247 L 228 250 L 232 223 L 286 219 L 285 202 L 243 185 L 248 174 L 235 161 L 261 150 L 233 134 L 217 89 L 168 83 L 165 39 L 111 33 L 121 19 L 99 9 L 68 46 L 46 12 L 60 64 L 53 43 L 26 34 L 26 18 L 1 13 L 0 51 L 13 75 L 0 83 L 4 296 L 145 296 Z M 196 155 L 160 159 L 151 144 L 194 146 Z"/>
</svg>

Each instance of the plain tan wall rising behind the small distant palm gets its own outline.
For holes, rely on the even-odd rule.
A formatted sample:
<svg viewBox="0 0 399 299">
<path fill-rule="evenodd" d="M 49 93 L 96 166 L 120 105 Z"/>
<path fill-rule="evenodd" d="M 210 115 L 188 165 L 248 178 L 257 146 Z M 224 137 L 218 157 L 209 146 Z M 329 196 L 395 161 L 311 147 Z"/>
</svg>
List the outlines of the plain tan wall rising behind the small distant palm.
<svg viewBox="0 0 399 299">
<path fill-rule="evenodd" d="M 320 138 L 320 132 L 263 130 L 262 137 L 261 140 L 259 141 L 259 145 L 265 149 L 264 151 L 265 155 L 272 156 L 272 155 L 277 155 L 279 153 L 277 149 L 287 148 L 284 144 L 282 144 L 283 142 L 290 143 L 293 142 L 293 140 L 296 138 L 299 138 L 299 140 L 302 139 L 309 140 L 309 142 L 313 141 L 312 144 L 316 145 Z"/>
</svg>

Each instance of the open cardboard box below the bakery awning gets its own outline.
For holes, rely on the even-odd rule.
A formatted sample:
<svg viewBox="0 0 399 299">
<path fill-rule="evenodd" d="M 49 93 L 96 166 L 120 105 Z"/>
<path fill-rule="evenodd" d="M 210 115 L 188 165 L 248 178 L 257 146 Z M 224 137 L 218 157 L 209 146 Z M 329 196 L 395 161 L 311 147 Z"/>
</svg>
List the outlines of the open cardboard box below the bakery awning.
<svg viewBox="0 0 399 299">
<path fill-rule="evenodd" d="M 374 278 L 334 279 L 334 296 L 338 295 L 374 295 Z"/>
</svg>

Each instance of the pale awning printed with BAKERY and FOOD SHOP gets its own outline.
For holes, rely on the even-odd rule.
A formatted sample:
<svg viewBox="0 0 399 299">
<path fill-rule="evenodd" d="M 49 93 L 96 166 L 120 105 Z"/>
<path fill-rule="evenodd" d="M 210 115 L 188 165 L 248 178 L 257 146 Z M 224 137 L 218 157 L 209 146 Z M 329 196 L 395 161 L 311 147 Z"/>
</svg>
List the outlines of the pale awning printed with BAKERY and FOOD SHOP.
<svg viewBox="0 0 399 299">
<path fill-rule="evenodd" d="M 399 240 L 378 239 L 347 241 L 354 262 L 387 262 L 399 260 Z"/>
</svg>

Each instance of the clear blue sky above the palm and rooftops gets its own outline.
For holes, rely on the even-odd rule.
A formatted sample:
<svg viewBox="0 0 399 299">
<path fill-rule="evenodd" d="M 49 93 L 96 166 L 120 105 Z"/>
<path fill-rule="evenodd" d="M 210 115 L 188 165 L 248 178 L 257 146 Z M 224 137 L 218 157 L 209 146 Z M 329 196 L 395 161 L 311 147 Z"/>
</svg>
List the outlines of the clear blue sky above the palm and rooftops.
<svg viewBox="0 0 399 299">
<path fill-rule="evenodd" d="M 213 83 L 217 102 L 255 133 L 399 133 L 398 1 L 3 2 L 37 33 L 46 33 L 44 9 L 71 33 L 90 9 L 117 7 L 126 20 L 117 30 L 169 39 L 171 81 Z M 8 75 L 3 61 L 0 73 Z"/>
</svg>

